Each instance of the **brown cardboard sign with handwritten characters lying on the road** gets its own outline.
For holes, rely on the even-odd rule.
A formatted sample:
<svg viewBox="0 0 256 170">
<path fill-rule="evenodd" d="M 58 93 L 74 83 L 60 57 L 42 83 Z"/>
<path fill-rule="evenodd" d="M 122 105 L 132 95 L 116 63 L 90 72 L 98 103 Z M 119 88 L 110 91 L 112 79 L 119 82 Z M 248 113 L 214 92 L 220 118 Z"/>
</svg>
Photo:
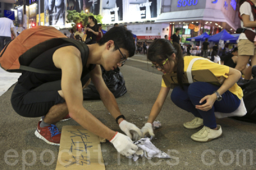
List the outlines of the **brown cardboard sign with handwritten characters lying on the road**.
<svg viewBox="0 0 256 170">
<path fill-rule="evenodd" d="M 81 126 L 61 129 L 56 170 L 105 170 L 99 136 Z"/>
</svg>

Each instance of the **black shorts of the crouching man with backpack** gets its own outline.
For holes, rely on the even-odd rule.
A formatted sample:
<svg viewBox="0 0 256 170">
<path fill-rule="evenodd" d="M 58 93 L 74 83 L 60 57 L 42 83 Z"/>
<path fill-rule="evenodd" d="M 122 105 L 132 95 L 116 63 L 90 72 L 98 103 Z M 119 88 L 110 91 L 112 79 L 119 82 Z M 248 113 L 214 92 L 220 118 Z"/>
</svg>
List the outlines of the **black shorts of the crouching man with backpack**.
<svg viewBox="0 0 256 170">
<path fill-rule="evenodd" d="M 45 116 L 53 105 L 65 102 L 58 93 L 60 89 L 60 81 L 42 84 L 33 90 L 17 84 L 12 93 L 12 107 L 20 116 L 28 118 Z"/>
</svg>

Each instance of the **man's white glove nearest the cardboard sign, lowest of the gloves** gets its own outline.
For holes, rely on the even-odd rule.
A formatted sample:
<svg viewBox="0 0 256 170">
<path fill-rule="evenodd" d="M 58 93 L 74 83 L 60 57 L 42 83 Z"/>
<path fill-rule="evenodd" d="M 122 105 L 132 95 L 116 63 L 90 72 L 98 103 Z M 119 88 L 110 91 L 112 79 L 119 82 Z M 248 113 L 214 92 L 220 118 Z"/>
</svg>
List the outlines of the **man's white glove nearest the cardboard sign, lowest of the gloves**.
<svg viewBox="0 0 256 170">
<path fill-rule="evenodd" d="M 127 135 L 118 132 L 109 142 L 113 143 L 116 150 L 126 157 L 130 157 L 138 150 L 138 146 L 136 146 Z"/>
</svg>

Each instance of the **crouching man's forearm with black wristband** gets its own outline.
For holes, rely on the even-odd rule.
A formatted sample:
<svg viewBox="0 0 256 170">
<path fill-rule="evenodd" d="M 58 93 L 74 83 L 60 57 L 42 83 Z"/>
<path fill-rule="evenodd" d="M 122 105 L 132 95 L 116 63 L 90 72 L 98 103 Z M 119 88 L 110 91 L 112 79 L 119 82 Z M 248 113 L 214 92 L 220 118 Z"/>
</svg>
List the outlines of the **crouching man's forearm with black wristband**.
<svg viewBox="0 0 256 170">
<path fill-rule="evenodd" d="M 116 98 L 114 97 L 113 93 L 111 93 L 111 91 L 109 91 L 109 90 L 106 91 L 106 93 L 100 98 L 101 98 L 103 104 L 105 105 L 105 107 L 110 112 L 110 114 L 113 116 L 113 118 L 116 119 L 118 116 L 121 115 L 120 109 L 116 103 Z"/>
</svg>

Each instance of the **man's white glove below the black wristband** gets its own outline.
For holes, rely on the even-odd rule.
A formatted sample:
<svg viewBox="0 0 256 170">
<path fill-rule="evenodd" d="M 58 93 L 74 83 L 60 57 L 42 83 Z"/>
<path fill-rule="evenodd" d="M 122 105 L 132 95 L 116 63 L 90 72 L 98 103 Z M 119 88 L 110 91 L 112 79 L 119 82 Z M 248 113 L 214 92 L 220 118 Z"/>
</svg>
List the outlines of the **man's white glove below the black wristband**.
<svg viewBox="0 0 256 170">
<path fill-rule="evenodd" d="M 129 123 L 126 120 L 121 121 L 119 127 L 127 136 L 129 136 L 132 140 L 138 141 L 142 137 L 142 133 L 140 128 L 136 127 L 136 125 Z"/>
</svg>

